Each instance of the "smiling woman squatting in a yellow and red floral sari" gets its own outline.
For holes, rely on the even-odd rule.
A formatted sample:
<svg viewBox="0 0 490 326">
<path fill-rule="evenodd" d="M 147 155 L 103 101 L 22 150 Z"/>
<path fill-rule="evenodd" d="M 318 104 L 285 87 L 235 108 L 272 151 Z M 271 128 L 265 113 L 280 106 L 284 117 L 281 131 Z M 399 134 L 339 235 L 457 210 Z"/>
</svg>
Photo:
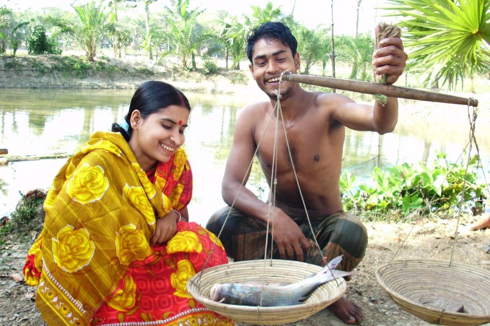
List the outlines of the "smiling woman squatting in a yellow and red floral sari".
<svg viewBox="0 0 490 326">
<path fill-rule="evenodd" d="M 216 241 L 187 222 L 189 112 L 182 92 L 146 82 L 127 130 L 95 132 L 55 177 L 23 269 L 48 324 L 232 324 L 186 291 Z M 207 267 L 227 262 L 217 241 Z"/>
</svg>

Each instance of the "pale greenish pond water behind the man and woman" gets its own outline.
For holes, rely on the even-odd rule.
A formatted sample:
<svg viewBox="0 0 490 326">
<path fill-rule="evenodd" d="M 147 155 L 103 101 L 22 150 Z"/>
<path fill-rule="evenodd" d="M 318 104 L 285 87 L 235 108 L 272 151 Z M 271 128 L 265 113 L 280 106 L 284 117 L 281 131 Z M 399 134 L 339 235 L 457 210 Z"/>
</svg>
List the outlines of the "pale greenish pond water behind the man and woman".
<svg viewBox="0 0 490 326">
<path fill-rule="evenodd" d="M 133 92 L 3 89 L 0 148 L 7 148 L 9 155 L 19 156 L 74 153 L 94 131 L 109 130 L 113 122 L 122 120 Z M 236 117 L 247 102 L 246 98 L 225 95 L 186 95 L 192 112 L 184 148 L 194 176 L 189 212 L 192 221 L 203 225 L 217 208 L 225 205 L 220 191 L 224 166 Z M 343 168 L 351 170 L 362 182 L 369 178 L 378 152 L 381 165 L 431 163 L 440 151 L 448 154 L 449 161 L 455 161 L 468 143 L 467 115 L 467 108 L 461 105 L 438 106 L 402 100 L 394 132 L 380 138 L 373 132 L 347 131 Z M 486 128 L 477 129 L 477 140 L 488 178 L 490 137 L 483 129 Z M 463 154 L 463 159 L 467 155 Z M 19 192 L 48 188 L 65 160 L 20 161 L 0 166 L 0 216 L 15 208 Z M 264 182 L 264 177 L 255 173 L 249 184 L 260 194 L 257 189 L 266 185 Z"/>
</svg>

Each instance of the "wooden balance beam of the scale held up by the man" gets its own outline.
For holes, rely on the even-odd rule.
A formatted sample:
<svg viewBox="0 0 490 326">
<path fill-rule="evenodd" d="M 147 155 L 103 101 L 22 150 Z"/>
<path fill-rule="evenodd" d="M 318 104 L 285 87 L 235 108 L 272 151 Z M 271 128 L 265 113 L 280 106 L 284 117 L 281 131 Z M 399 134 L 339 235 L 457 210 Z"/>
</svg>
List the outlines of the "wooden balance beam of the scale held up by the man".
<svg viewBox="0 0 490 326">
<path fill-rule="evenodd" d="M 417 90 L 413 88 L 399 87 L 393 85 L 382 85 L 359 80 L 339 79 L 322 76 L 299 75 L 285 72 L 283 79 L 289 82 L 297 82 L 309 85 L 329 87 L 338 90 L 352 91 L 364 94 L 382 94 L 388 97 L 407 98 L 411 100 L 421 100 L 429 102 L 441 102 L 451 104 L 462 104 L 478 106 L 478 100 L 474 98 L 464 98 L 448 94 Z"/>
</svg>

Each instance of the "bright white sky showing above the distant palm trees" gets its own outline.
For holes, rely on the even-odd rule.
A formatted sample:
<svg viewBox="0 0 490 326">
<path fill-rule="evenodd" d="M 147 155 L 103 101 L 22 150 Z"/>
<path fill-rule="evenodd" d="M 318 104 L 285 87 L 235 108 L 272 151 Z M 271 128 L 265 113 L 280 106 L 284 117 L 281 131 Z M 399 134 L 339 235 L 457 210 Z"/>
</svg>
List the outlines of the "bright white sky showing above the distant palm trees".
<svg viewBox="0 0 490 326">
<path fill-rule="evenodd" d="M 83 3 L 86 0 L 76 0 Z M 31 8 L 35 11 L 44 7 L 58 7 L 70 10 L 70 0 L 0 0 L 0 6 L 7 5 L 8 8 L 26 10 Z M 228 10 L 230 14 L 251 14 L 251 5 L 265 7 L 265 0 L 190 0 L 190 8 L 206 9 L 206 12 L 217 10 Z M 273 8 L 281 7 L 284 13 L 290 13 L 295 8 L 294 17 L 309 29 L 318 24 L 331 24 L 331 0 L 272 0 Z M 150 5 L 150 10 L 159 11 L 163 5 L 168 5 L 168 0 L 158 0 Z M 296 5 L 295 5 L 296 4 Z M 376 9 L 383 7 L 384 0 L 361 0 L 359 11 L 359 32 L 372 32 L 376 23 L 388 20 L 380 17 L 384 10 Z M 336 35 L 355 35 L 356 31 L 356 8 L 357 0 L 333 0 L 334 10 L 334 33 Z"/>
</svg>

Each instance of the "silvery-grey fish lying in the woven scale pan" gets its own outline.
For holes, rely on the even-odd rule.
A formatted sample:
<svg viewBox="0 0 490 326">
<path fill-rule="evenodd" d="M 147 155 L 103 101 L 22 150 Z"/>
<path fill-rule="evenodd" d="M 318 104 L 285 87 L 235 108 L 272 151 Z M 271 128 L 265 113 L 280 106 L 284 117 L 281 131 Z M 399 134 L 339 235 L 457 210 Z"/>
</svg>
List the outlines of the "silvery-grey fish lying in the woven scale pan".
<svg viewBox="0 0 490 326">
<path fill-rule="evenodd" d="M 332 259 L 318 273 L 296 283 L 263 286 L 249 283 L 217 283 L 211 287 L 209 294 L 211 300 L 229 305 L 260 307 L 299 305 L 322 284 L 353 273 L 334 269 L 342 260 L 342 256 Z"/>
</svg>

